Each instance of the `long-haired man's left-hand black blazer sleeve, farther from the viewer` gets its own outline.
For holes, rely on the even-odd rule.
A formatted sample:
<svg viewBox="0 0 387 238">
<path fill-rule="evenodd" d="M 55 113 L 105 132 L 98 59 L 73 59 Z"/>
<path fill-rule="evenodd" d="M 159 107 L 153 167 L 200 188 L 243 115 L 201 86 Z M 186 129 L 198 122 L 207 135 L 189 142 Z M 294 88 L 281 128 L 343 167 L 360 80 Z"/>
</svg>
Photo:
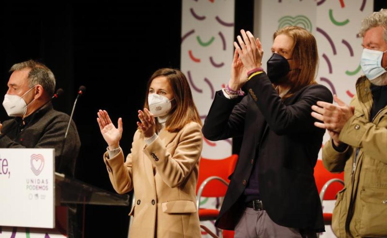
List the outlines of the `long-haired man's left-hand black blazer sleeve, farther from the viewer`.
<svg viewBox="0 0 387 238">
<path fill-rule="evenodd" d="M 204 121 L 202 129 L 204 137 L 216 141 L 242 135 L 246 111 L 246 97 L 228 99 L 222 91 L 217 91 Z"/>
</svg>

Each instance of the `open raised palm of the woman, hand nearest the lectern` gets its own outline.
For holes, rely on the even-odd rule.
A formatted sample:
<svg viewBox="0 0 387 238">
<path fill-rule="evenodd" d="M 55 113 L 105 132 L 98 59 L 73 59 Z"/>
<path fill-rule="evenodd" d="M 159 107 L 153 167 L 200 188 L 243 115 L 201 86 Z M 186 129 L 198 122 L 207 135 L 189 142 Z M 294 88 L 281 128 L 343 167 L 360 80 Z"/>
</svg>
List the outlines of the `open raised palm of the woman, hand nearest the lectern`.
<svg viewBox="0 0 387 238">
<path fill-rule="evenodd" d="M 101 134 L 109 145 L 109 149 L 116 149 L 119 146 L 122 137 L 122 118 L 118 118 L 118 128 L 116 128 L 110 120 L 108 112 L 99 110 L 97 122 Z"/>
</svg>

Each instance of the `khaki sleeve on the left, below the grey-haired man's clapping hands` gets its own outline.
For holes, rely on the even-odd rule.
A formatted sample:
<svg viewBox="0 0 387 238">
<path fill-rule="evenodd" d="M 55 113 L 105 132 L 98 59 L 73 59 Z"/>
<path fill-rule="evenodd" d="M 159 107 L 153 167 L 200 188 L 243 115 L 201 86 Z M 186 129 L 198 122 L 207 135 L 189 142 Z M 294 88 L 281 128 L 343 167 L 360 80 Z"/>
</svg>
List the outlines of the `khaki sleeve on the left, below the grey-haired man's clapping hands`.
<svg viewBox="0 0 387 238">
<path fill-rule="evenodd" d="M 338 152 L 332 145 L 332 139 L 325 142 L 322 148 L 322 162 L 330 172 L 340 173 L 344 171 L 345 163 L 351 156 L 353 148 L 348 146 L 343 152 Z"/>
</svg>

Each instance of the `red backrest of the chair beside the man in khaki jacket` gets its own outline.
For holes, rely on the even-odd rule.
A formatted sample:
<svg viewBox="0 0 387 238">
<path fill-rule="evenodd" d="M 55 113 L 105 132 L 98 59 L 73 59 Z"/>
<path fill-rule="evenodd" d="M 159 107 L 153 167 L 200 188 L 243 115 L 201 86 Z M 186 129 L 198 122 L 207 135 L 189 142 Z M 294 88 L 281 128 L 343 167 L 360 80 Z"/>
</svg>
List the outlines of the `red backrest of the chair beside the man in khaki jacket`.
<svg viewBox="0 0 387 238">
<path fill-rule="evenodd" d="M 315 169 L 314 169 L 314 177 L 316 181 L 316 186 L 319 192 L 322 189 L 322 186 L 329 181 L 330 179 L 341 179 L 344 180 L 344 172 L 339 174 L 334 174 L 325 169 L 322 164 L 322 160 L 317 160 Z M 342 184 L 332 183 L 325 191 L 324 200 L 335 200 L 336 194 L 343 188 Z"/>
</svg>

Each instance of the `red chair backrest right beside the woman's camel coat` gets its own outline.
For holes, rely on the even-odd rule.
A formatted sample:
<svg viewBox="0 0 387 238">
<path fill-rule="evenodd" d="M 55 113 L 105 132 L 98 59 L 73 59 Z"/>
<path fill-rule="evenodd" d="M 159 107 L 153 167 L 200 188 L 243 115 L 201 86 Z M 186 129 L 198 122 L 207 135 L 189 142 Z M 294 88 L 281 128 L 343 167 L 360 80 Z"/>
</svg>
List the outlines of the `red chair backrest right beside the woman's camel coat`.
<svg viewBox="0 0 387 238">
<path fill-rule="evenodd" d="M 196 186 L 196 193 L 200 184 L 211 176 L 218 176 L 230 182 L 228 176 L 234 172 L 238 155 L 231 155 L 225 159 L 205 159 L 200 158 L 199 178 Z M 223 197 L 226 194 L 227 186 L 217 180 L 212 180 L 204 187 L 203 197 Z"/>
</svg>

